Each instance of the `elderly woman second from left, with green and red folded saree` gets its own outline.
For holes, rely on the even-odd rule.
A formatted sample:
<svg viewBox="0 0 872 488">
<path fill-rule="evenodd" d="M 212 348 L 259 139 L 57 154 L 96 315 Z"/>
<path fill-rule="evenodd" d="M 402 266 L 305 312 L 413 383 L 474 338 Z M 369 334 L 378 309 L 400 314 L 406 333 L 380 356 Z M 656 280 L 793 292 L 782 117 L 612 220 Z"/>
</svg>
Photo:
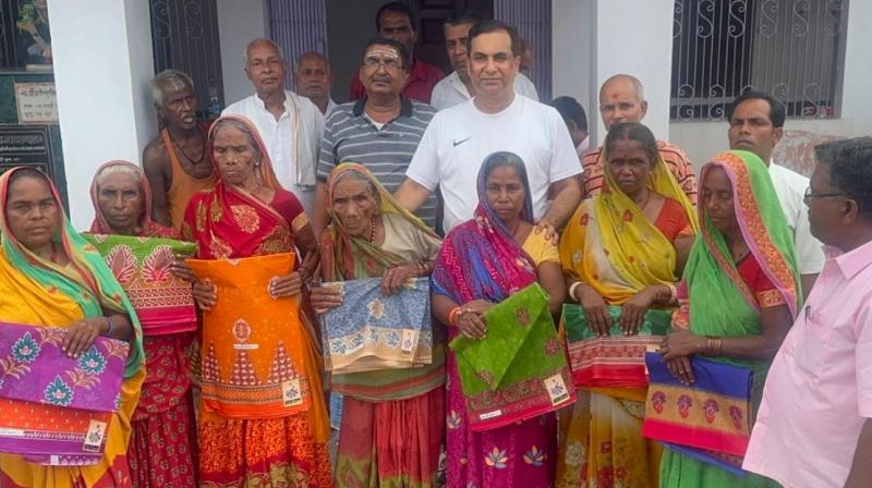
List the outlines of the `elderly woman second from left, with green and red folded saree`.
<svg viewBox="0 0 872 488">
<path fill-rule="evenodd" d="M 167 273 L 177 267 L 173 252 L 193 245 L 169 241 L 175 232 L 152 220 L 148 182 L 132 162 L 102 164 L 90 198 L 96 217 L 88 239 L 106 257 L 143 327 L 148 374 L 132 418 L 131 475 L 142 488 L 195 486 L 196 423 L 185 350 L 194 339 L 196 310 L 191 284 Z"/>
</svg>

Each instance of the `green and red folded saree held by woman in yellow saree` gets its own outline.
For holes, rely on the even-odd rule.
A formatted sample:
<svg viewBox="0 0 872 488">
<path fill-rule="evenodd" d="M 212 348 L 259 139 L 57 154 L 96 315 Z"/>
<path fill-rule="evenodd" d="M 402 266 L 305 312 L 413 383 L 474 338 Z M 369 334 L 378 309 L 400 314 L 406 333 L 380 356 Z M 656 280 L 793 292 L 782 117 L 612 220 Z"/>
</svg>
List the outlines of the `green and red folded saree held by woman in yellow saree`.
<svg viewBox="0 0 872 488">
<path fill-rule="evenodd" d="M 564 305 L 562 328 L 566 331 L 572 382 L 579 387 L 639 388 L 647 386 L 645 352 L 658 347 L 669 330 L 671 314 L 649 309 L 635 335 L 625 335 L 618 325 L 620 306 L 609 306 L 611 330 L 598 337 L 588 325 L 580 305 Z"/>
</svg>

